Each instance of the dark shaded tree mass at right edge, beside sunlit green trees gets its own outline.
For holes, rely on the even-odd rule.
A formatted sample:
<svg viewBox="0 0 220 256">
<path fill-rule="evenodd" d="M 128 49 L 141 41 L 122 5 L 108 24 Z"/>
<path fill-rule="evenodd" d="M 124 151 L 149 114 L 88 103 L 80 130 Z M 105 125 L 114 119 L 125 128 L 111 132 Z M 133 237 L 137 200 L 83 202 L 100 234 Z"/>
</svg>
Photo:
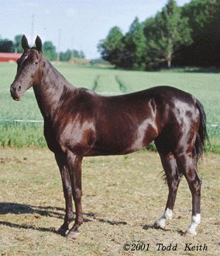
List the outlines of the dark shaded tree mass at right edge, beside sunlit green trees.
<svg viewBox="0 0 220 256">
<path fill-rule="evenodd" d="M 182 7 L 187 17 L 193 44 L 175 53 L 176 65 L 220 66 L 220 2 L 194 0 Z"/>
</svg>

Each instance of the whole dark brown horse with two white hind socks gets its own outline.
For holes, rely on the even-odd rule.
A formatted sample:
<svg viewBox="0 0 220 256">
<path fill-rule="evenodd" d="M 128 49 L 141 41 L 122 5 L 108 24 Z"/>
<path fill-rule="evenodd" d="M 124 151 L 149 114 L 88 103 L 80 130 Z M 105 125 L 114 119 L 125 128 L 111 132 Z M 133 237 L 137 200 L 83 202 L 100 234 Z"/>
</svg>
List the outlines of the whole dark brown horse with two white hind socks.
<svg viewBox="0 0 220 256">
<path fill-rule="evenodd" d="M 164 228 L 171 219 L 177 188 L 183 174 L 192 195 L 191 225 L 186 233 L 196 234 L 200 223 L 201 178 L 197 162 L 202 154 L 206 132 L 205 112 L 189 93 L 169 86 L 158 86 L 121 96 L 101 96 L 89 89 L 70 85 L 43 55 L 40 37 L 36 47 L 25 50 L 17 61 L 11 86 L 14 100 L 33 86 L 44 118 L 47 145 L 60 168 L 66 200 L 66 215 L 59 233 L 76 237 L 83 223 L 81 209 L 81 162 L 84 156 L 122 155 L 155 142 L 167 177 L 169 195 L 163 216 L 155 226 Z"/>
</svg>

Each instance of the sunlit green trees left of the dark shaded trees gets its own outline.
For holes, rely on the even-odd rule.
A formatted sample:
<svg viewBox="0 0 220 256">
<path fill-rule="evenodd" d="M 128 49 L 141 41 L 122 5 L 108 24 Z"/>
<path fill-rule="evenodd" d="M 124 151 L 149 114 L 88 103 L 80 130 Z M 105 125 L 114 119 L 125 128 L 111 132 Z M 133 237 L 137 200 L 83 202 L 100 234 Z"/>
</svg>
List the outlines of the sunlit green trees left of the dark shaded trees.
<svg viewBox="0 0 220 256">
<path fill-rule="evenodd" d="M 167 61 L 170 68 L 177 46 L 191 43 L 190 32 L 187 17 L 181 17 L 176 2 L 169 0 L 155 18 L 141 24 L 136 17 L 125 37 L 117 26 L 112 28 L 98 48 L 102 58 L 124 68 L 146 70 L 158 61 Z"/>
</svg>

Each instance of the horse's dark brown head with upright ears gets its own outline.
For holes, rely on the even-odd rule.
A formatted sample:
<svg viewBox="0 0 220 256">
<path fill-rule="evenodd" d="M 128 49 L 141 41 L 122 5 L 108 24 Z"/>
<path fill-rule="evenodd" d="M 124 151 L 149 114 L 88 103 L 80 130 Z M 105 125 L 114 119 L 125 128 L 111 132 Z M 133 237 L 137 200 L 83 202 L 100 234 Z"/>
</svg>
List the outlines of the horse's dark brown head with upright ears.
<svg viewBox="0 0 220 256">
<path fill-rule="evenodd" d="M 14 100 L 21 100 L 27 89 L 37 84 L 40 79 L 40 60 L 42 55 L 42 42 L 36 37 L 36 47 L 29 47 L 26 36 L 22 37 L 24 53 L 17 61 L 18 68 L 15 80 L 11 85 L 11 95 Z"/>
</svg>

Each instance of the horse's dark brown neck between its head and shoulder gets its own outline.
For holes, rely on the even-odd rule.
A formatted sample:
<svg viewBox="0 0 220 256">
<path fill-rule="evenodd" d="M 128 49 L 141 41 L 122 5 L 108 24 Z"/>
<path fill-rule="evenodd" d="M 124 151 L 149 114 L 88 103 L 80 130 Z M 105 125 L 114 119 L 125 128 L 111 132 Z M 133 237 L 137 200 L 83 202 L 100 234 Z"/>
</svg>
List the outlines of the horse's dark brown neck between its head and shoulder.
<svg viewBox="0 0 220 256">
<path fill-rule="evenodd" d="M 46 61 L 46 58 L 43 61 L 46 65 L 43 68 L 40 84 L 33 86 L 33 89 L 40 111 L 46 118 L 53 117 L 57 108 L 60 107 L 60 97 L 64 93 L 64 87 L 71 87 L 71 90 L 75 87 L 70 85 L 64 76 L 53 68 L 49 61 Z"/>
</svg>

